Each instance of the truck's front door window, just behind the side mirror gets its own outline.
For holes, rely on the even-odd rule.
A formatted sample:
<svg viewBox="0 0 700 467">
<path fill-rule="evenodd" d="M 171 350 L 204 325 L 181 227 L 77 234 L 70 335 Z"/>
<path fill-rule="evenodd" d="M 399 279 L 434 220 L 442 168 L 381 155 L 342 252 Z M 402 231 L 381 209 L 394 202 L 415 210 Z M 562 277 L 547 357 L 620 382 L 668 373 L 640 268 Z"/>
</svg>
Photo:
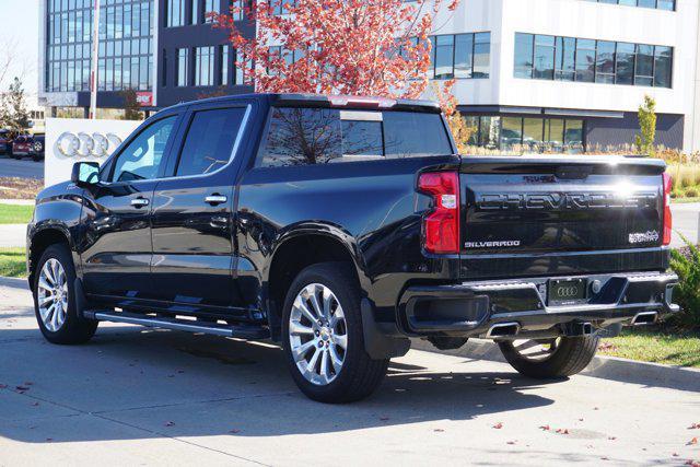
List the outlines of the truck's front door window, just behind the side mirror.
<svg viewBox="0 0 700 467">
<path fill-rule="evenodd" d="M 163 118 L 141 131 L 117 156 L 112 182 L 156 178 L 176 121 L 176 116 Z"/>
</svg>

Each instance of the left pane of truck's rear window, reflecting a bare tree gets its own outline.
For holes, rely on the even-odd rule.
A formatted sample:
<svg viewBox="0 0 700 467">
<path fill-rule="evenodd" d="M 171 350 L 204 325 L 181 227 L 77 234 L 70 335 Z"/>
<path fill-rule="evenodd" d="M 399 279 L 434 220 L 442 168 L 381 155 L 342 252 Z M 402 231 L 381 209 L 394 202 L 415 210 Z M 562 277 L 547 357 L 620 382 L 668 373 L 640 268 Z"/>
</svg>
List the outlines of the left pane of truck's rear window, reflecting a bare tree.
<svg viewBox="0 0 700 467">
<path fill-rule="evenodd" d="M 342 152 L 338 110 L 272 108 L 264 166 L 323 164 Z"/>
</svg>

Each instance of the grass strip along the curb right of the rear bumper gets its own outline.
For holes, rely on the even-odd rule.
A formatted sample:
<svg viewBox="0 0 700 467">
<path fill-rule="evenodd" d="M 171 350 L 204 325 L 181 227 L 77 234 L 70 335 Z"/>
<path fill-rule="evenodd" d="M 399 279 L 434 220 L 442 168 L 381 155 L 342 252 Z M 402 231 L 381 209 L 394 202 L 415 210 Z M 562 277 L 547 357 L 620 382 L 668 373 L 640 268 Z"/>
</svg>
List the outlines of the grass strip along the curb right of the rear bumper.
<svg viewBox="0 0 700 467">
<path fill-rule="evenodd" d="M 625 329 L 619 337 L 603 339 L 598 354 L 700 367 L 700 332 L 673 334 L 654 328 Z"/>
</svg>

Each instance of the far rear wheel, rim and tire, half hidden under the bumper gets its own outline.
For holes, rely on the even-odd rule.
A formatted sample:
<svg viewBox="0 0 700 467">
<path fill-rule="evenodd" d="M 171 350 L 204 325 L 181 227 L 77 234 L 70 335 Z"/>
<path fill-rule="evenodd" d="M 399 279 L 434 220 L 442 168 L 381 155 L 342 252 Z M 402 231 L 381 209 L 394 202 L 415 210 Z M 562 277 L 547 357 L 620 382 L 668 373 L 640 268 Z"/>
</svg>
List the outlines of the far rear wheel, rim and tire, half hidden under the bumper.
<svg viewBox="0 0 700 467">
<path fill-rule="evenodd" d="M 505 360 L 525 376 L 563 378 L 582 372 L 595 357 L 597 336 L 499 342 Z"/>
</svg>

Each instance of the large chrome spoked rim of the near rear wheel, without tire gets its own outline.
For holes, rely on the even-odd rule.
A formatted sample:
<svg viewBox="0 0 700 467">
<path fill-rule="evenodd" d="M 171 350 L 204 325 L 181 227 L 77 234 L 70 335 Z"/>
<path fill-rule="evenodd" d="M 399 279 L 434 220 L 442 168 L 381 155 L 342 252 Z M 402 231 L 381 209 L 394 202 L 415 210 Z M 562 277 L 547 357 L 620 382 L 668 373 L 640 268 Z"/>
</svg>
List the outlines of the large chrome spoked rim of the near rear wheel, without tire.
<svg viewBox="0 0 700 467">
<path fill-rule="evenodd" d="M 313 283 L 299 292 L 289 318 L 292 357 L 311 383 L 330 384 L 342 370 L 348 327 L 340 302 L 326 285 Z"/>
</svg>

